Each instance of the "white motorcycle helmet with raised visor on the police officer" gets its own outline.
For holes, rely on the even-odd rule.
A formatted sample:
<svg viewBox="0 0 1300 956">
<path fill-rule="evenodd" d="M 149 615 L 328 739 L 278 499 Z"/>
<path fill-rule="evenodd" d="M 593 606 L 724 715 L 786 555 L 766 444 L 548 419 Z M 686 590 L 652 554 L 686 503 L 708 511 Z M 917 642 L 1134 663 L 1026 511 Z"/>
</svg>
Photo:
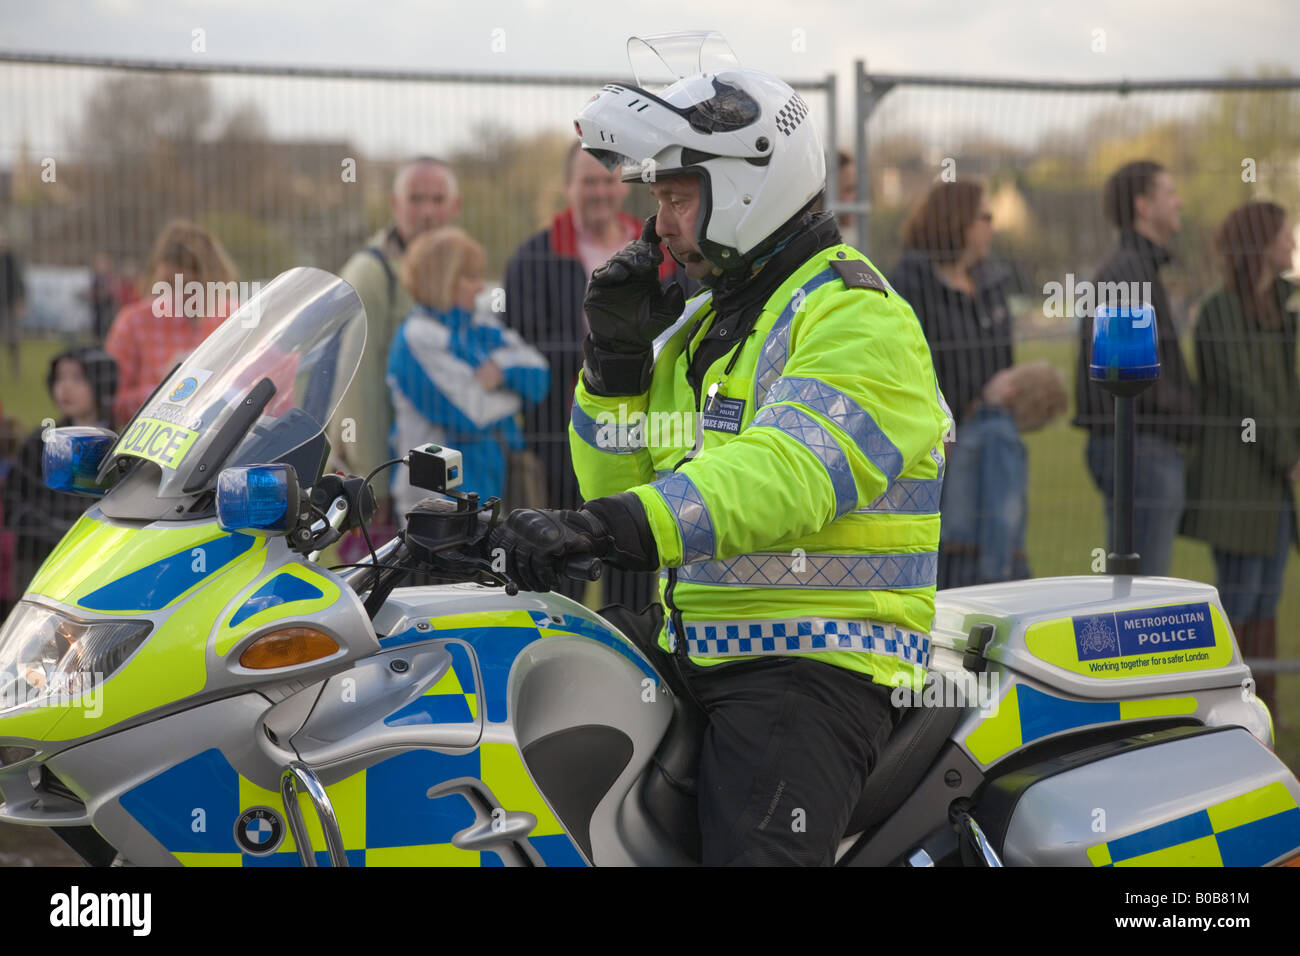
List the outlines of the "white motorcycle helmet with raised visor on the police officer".
<svg viewBox="0 0 1300 956">
<path fill-rule="evenodd" d="M 624 182 L 697 174 L 696 238 L 724 272 L 753 263 L 826 187 L 826 153 L 807 104 L 758 70 L 699 72 L 658 95 L 608 83 L 573 125 L 582 148 L 611 172 L 621 166 Z"/>
</svg>

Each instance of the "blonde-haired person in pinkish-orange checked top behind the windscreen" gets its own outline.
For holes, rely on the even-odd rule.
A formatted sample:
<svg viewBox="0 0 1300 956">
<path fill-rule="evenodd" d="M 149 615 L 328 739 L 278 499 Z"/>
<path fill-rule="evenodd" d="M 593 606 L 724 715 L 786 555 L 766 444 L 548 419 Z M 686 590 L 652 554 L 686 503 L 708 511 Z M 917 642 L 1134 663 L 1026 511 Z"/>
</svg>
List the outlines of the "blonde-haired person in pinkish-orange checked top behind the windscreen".
<svg viewBox="0 0 1300 956">
<path fill-rule="evenodd" d="M 166 290 L 122 308 L 104 343 L 120 369 L 113 399 L 113 423 L 118 428 L 130 420 L 176 363 L 194 351 L 239 304 L 230 256 L 212 233 L 194 222 L 173 220 L 162 228 L 150 256 L 150 273 L 155 287 L 165 284 Z M 173 303 L 174 289 L 185 290 L 190 282 L 203 285 L 202 304 L 187 291 L 182 302 Z"/>
</svg>

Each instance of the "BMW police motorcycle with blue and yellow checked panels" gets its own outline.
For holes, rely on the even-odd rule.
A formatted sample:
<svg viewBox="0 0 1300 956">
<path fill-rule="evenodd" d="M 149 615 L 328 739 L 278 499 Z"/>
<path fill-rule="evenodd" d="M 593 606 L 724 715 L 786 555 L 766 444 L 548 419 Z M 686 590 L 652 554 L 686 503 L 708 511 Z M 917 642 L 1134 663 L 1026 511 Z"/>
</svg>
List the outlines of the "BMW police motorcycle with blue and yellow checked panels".
<svg viewBox="0 0 1300 956">
<path fill-rule="evenodd" d="M 374 472 L 325 471 L 364 337 L 292 269 L 122 436 L 47 434 L 48 484 L 96 501 L 0 630 L 0 821 L 91 865 L 690 865 L 703 721 L 658 620 L 504 580 L 458 453 L 406 457 L 438 497 L 402 535 L 317 561 L 373 506 Z M 932 643 L 840 865 L 1300 862 L 1214 588 L 949 591 Z"/>
</svg>

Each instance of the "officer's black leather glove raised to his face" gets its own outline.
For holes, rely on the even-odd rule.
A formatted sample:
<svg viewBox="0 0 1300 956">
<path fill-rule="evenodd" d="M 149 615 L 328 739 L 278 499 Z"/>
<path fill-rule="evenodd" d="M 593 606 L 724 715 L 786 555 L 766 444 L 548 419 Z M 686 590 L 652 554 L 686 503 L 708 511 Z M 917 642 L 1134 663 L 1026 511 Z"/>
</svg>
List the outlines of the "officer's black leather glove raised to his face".
<svg viewBox="0 0 1300 956">
<path fill-rule="evenodd" d="M 681 316 L 685 295 L 676 282 L 659 285 L 663 252 L 655 217 L 592 273 L 582 299 L 592 333 L 582 343 L 588 388 L 602 395 L 640 395 L 650 388 L 651 345 Z"/>
</svg>

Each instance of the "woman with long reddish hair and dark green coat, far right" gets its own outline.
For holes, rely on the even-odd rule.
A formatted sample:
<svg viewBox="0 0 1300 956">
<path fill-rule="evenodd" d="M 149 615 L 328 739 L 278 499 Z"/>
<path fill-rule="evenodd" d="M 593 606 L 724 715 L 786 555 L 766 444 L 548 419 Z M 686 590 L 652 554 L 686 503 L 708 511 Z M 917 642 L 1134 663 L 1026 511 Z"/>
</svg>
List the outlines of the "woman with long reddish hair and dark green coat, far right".
<svg viewBox="0 0 1300 956">
<path fill-rule="evenodd" d="M 1196 316 L 1205 425 L 1188 459 L 1183 533 L 1206 541 L 1219 598 L 1247 658 L 1277 654 L 1277 607 L 1297 540 L 1292 483 L 1300 479 L 1300 384 L 1295 285 L 1282 278 L 1295 239 L 1286 211 L 1247 203 L 1214 235 L 1223 285 Z M 1277 717 L 1274 676 L 1257 678 Z"/>
</svg>

